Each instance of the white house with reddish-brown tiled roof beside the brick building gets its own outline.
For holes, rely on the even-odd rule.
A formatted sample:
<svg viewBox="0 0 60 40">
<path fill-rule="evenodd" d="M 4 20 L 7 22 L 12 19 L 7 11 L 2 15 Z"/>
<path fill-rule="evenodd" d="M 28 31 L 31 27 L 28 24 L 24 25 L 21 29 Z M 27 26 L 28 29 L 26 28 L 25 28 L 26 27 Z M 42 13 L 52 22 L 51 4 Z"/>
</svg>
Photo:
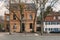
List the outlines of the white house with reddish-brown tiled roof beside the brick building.
<svg viewBox="0 0 60 40">
<path fill-rule="evenodd" d="M 46 16 L 44 32 L 60 32 L 60 12 L 51 12 Z"/>
</svg>

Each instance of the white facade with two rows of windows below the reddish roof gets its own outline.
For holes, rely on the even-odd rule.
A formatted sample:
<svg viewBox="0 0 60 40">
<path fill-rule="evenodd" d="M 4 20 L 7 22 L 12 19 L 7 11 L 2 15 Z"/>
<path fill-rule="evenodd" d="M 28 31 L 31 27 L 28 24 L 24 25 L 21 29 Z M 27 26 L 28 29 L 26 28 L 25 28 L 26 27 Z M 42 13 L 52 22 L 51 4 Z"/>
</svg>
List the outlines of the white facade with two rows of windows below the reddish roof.
<svg viewBox="0 0 60 40">
<path fill-rule="evenodd" d="M 55 24 L 51 23 L 52 22 L 50 22 L 50 24 L 46 24 L 46 22 L 44 22 L 44 32 L 60 31 L 60 22 L 56 22 Z"/>
</svg>

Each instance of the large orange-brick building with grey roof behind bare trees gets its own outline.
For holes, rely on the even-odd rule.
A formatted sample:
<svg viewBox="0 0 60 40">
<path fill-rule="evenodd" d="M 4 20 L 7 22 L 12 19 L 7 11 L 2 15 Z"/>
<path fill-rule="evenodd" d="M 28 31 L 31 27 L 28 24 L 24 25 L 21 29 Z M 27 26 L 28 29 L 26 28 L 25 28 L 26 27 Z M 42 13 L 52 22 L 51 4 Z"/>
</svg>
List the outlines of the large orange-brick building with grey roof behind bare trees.
<svg viewBox="0 0 60 40">
<path fill-rule="evenodd" d="M 5 31 L 9 31 L 9 29 L 11 29 L 11 32 L 20 32 L 20 29 L 22 29 L 23 32 L 31 32 L 34 28 L 33 30 L 36 32 L 36 21 L 33 26 L 36 8 L 33 3 L 24 4 L 22 13 L 22 28 L 20 27 L 19 21 L 21 18 L 19 5 L 11 4 L 10 10 L 12 11 L 9 11 L 9 14 L 5 13 L 4 16 Z"/>
</svg>

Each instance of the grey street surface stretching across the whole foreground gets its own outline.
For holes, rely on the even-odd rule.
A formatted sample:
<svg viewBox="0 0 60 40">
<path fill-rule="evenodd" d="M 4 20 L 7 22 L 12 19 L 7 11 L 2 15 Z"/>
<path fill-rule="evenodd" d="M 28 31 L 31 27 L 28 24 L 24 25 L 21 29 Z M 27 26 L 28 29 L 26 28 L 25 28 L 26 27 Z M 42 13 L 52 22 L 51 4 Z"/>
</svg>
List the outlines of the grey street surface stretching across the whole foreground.
<svg viewBox="0 0 60 40">
<path fill-rule="evenodd" d="M 60 34 L 59 34 L 60 35 Z M 58 35 L 39 35 L 36 33 L 14 33 L 9 35 L 8 33 L 0 33 L 0 40 L 60 40 Z"/>
</svg>

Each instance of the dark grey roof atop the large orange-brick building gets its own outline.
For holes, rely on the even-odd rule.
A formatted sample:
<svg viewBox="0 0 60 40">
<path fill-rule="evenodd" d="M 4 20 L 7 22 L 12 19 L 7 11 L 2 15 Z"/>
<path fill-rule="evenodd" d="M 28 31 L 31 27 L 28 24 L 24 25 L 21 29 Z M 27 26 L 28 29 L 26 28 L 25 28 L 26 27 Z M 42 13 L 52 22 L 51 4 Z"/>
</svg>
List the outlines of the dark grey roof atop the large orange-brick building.
<svg viewBox="0 0 60 40">
<path fill-rule="evenodd" d="M 10 9 L 19 10 L 19 4 L 11 4 Z M 36 10 L 35 4 L 33 3 L 26 3 L 25 4 L 26 10 Z"/>
</svg>

